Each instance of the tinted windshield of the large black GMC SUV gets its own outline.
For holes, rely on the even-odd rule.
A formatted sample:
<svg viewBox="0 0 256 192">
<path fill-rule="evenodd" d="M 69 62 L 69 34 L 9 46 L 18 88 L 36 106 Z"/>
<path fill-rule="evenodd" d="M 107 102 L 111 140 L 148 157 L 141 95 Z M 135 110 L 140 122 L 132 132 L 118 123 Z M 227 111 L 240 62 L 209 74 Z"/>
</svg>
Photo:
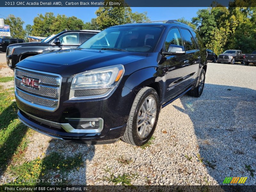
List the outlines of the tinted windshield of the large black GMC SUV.
<svg viewBox="0 0 256 192">
<path fill-rule="evenodd" d="M 129 52 L 154 52 L 163 26 L 113 27 L 101 31 L 78 48 L 110 49 Z"/>
</svg>

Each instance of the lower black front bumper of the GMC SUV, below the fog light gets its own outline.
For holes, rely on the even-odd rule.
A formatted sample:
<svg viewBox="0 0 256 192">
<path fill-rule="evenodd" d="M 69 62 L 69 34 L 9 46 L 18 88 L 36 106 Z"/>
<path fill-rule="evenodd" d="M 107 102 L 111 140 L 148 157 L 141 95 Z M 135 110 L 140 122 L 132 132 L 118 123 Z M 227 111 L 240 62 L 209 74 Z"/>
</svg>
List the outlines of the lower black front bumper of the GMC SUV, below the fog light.
<svg viewBox="0 0 256 192">
<path fill-rule="evenodd" d="M 40 132 L 42 134 L 45 134 L 47 136 L 64 140 L 64 141 L 72 141 L 76 143 L 85 143 L 89 145 L 95 145 L 95 144 L 108 144 L 108 143 L 114 143 L 120 139 L 120 137 L 123 136 L 126 124 L 123 126 L 111 128 L 108 130 L 108 132 L 102 136 L 101 132 L 98 133 L 70 133 L 66 132 L 61 126 L 62 124 L 51 122 L 52 126 L 49 125 L 50 121 L 48 121 L 48 125 L 41 123 L 45 121 L 44 119 L 41 119 L 42 121 L 39 122 L 39 118 L 33 118 L 33 116 L 30 116 L 29 114 L 19 110 L 18 111 L 19 119 L 22 123 L 27 125 L 29 128 Z M 38 121 L 39 120 L 39 121 Z"/>
</svg>

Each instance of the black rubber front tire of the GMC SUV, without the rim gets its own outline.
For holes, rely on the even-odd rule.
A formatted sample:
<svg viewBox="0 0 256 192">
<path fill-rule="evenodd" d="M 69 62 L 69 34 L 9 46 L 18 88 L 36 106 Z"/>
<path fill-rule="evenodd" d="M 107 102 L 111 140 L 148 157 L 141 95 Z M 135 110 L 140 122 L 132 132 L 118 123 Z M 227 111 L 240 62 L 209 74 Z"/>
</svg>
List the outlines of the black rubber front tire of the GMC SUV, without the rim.
<svg viewBox="0 0 256 192">
<path fill-rule="evenodd" d="M 142 138 L 139 134 L 139 129 L 141 129 L 141 127 L 140 128 L 137 127 L 137 120 L 138 120 L 138 114 L 141 112 L 140 109 L 148 97 L 152 97 L 156 101 L 156 115 L 155 115 L 154 124 L 148 136 Z M 148 142 L 148 140 L 152 137 L 156 129 L 156 124 L 157 124 L 159 111 L 160 111 L 159 103 L 160 103 L 159 97 L 155 89 L 151 87 L 144 87 L 139 91 L 139 93 L 136 95 L 133 101 L 132 109 L 128 117 L 126 130 L 124 132 L 123 137 L 121 137 L 121 139 L 124 142 L 129 143 L 131 145 L 135 145 L 135 146 L 142 146 Z"/>
</svg>

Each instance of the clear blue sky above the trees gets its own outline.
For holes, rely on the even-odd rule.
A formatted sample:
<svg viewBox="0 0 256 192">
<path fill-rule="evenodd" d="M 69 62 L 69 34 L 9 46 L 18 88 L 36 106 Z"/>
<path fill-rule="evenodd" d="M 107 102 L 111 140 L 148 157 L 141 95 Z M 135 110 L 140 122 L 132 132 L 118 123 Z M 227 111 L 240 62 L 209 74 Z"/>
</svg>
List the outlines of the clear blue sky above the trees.
<svg viewBox="0 0 256 192">
<path fill-rule="evenodd" d="M 196 16 L 196 12 L 204 7 L 131 7 L 132 12 L 148 12 L 151 21 L 156 20 L 172 20 L 184 17 L 191 20 Z M 33 25 L 33 19 L 38 13 L 53 12 L 57 14 L 65 14 L 68 17 L 76 16 L 84 22 L 91 21 L 95 18 L 95 11 L 98 7 L 5 7 L 0 12 L 0 18 L 6 18 L 9 14 L 20 17 L 24 22 L 24 28 L 27 24 Z M 5 17 L 4 17 L 5 16 Z"/>
</svg>

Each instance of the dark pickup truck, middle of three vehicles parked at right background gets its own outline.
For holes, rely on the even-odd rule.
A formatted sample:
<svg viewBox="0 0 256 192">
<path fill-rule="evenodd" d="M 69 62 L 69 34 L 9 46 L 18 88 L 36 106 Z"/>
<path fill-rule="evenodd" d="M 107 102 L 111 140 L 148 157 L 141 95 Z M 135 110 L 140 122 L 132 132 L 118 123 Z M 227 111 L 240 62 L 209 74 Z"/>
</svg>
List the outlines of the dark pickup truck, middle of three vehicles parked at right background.
<svg viewBox="0 0 256 192">
<path fill-rule="evenodd" d="M 241 50 L 226 50 L 218 56 L 217 62 L 235 64 L 236 61 L 239 61 L 244 64 L 244 55 Z"/>
</svg>

